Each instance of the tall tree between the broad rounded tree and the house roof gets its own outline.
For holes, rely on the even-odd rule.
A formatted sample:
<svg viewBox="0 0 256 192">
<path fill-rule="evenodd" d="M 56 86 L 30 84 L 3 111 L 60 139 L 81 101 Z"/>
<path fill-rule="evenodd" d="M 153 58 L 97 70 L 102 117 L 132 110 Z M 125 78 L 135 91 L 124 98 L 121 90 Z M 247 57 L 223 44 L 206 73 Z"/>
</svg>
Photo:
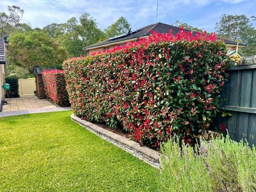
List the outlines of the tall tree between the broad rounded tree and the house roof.
<svg viewBox="0 0 256 192">
<path fill-rule="evenodd" d="M 82 14 L 78 19 L 72 17 L 66 23 L 52 23 L 42 29 L 49 37 L 55 38 L 69 57 L 84 55 L 84 47 L 106 39 L 104 32 L 97 27 L 97 23 L 89 14 Z"/>
</svg>

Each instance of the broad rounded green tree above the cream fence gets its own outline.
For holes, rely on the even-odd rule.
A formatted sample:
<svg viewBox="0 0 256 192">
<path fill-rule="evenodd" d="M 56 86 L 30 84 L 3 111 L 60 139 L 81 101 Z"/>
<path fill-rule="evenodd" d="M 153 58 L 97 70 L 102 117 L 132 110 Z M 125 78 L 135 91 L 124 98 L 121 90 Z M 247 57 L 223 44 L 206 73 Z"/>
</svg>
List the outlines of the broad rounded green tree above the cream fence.
<svg viewBox="0 0 256 192">
<path fill-rule="evenodd" d="M 62 64 L 67 57 L 68 52 L 43 31 L 17 31 L 9 37 L 9 63 L 31 74 L 34 65 L 52 67 Z"/>
</svg>

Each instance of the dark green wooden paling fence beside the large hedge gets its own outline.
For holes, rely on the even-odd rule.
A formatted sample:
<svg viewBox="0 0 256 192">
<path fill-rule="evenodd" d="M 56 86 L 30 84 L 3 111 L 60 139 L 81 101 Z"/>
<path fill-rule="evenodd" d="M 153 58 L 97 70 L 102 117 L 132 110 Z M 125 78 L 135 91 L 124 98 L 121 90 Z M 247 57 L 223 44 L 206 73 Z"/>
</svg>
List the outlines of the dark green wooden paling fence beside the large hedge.
<svg viewBox="0 0 256 192">
<path fill-rule="evenodd" d="M 238 65 L 228 72 L 220 109 L 232 116 L 219 114 L 216 125 L 225 124 L 233 140 L 246 139 L 250 145 L 256 145 L 256 65 Z"/>
</svg>

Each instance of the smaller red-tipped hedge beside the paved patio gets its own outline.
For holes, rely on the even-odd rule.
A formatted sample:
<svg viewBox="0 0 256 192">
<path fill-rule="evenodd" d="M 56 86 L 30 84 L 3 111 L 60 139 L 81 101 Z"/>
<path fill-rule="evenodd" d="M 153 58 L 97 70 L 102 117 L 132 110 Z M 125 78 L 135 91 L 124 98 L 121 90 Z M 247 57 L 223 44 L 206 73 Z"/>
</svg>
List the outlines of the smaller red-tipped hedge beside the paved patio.
<svg viewBox="0 0 256 192">
<path fill-rule="evenodd" d="M 45 70 L 42 72 L 44 90 L 47 97 L 61 106 L 68 106 L 69 97 L 65 89 L 65 77 L 63 70 Z"/>
</svg>

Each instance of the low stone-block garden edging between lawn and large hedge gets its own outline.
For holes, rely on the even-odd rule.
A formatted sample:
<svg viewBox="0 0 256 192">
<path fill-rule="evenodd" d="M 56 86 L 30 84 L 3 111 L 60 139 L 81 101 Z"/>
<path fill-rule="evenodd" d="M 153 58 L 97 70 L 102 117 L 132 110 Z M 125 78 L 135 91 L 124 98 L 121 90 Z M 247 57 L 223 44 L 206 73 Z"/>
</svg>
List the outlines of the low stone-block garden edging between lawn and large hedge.
<svg viewBox="0 0 256 192">
<path fill-rule="evenodd" d="M 157 151 L 150 149 L 145 146 L 140 146 L 139 143 L 135 141 L 129 140 L 126 137 L 122 137 L 118 134 L 115 134 L 111 131 L 103 129 L 93 123 L 90 123 L 85 120 L 81 120 L 81 118 L 76 117 L 74 114 L 71 115 L 71 120 L 82 125 L 84 128 L 88 129 L 92 133 L 100 136 L 104 140 L 116 145 L 117 147 L 126 150 L 128 153 L 133 156 L 140 158 L 145 161 L 147 164 L 151 165 L 154 168 L 160 168 L 160 153 Z"/>
</svg>

